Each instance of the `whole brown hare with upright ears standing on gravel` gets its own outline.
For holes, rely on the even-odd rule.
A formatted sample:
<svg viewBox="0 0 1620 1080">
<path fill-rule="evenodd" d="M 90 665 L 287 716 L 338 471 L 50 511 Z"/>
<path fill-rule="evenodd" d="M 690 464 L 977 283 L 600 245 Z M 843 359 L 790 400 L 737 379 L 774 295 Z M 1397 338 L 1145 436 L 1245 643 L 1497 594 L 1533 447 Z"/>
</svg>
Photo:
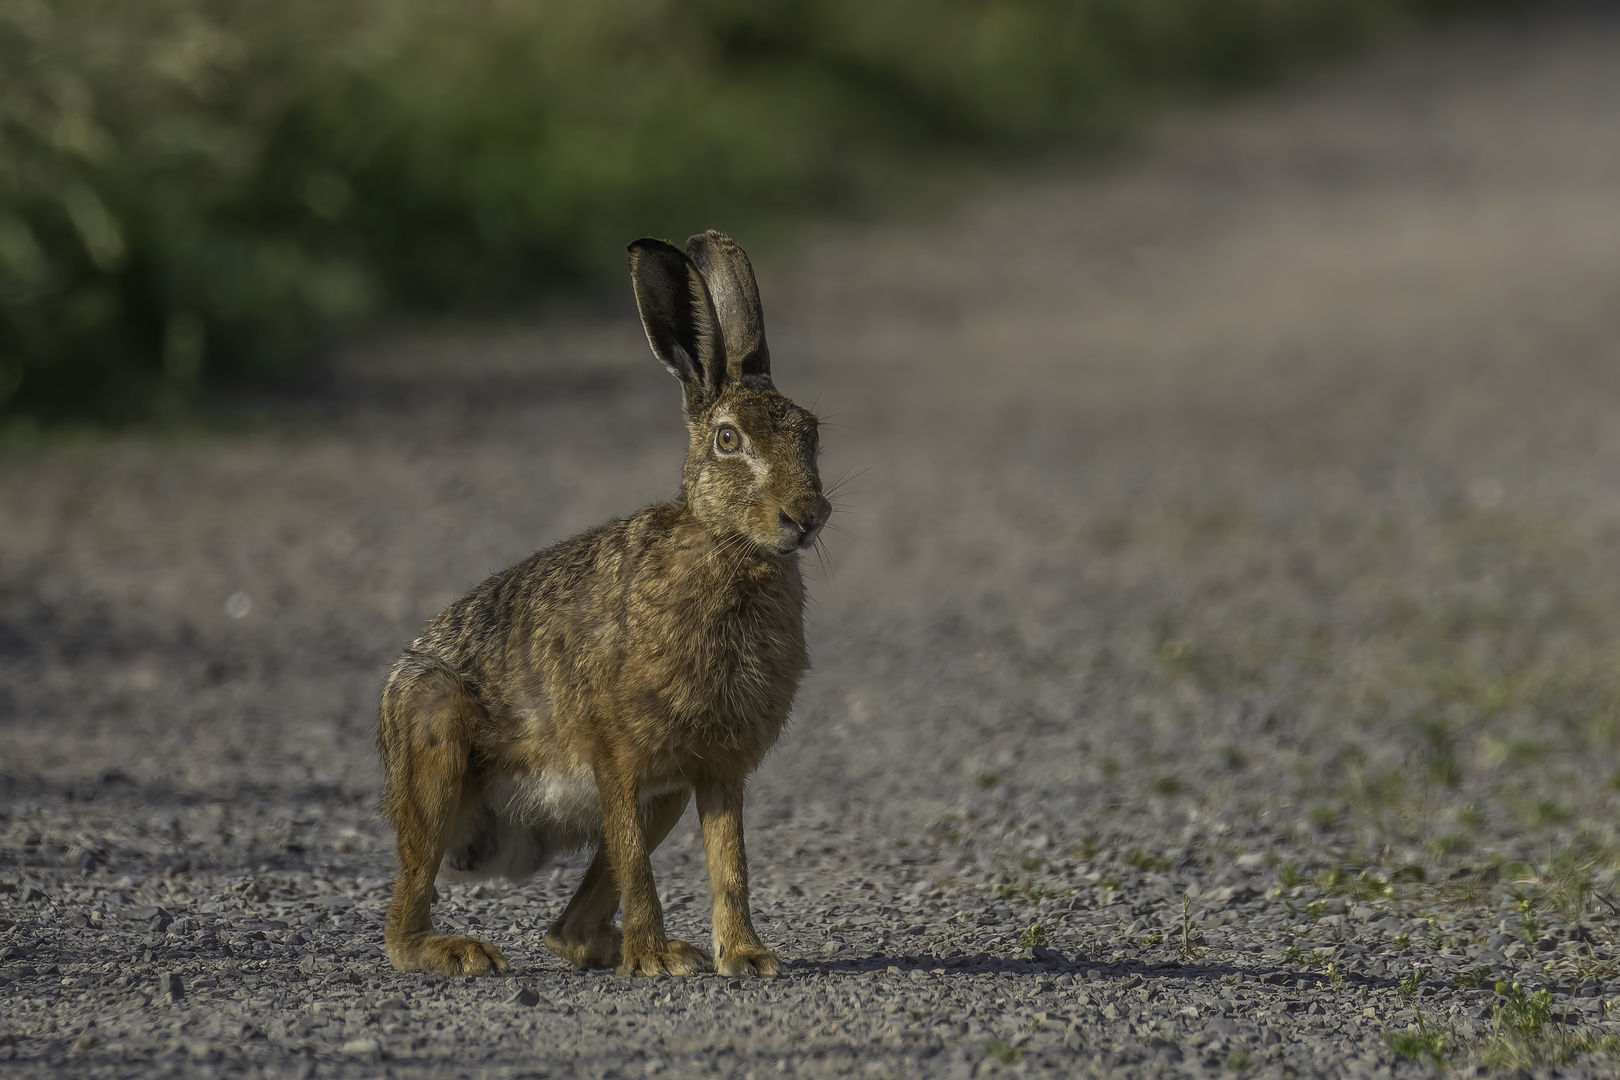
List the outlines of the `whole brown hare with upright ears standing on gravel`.
<svg viewBox="0 0 1620 1080">
<path fill-rule="evenodd" d="M 729 236 L 684 253 L 638 240 L 630 279 L 682 385 L 680 494 L 494 575 L 389 674 L 377 750 L 399 834 L 384 933 L 397 968 L 507 970 L 492 944 L 434 933 L 441 861 L 518 879 L 595 842 L 552 952 L 624 975 L 778 973 L 748 913 L 742 798 L 808 667 L 799 555 L 831 513 L 818 421 L 771 385 L 753 267 Z M 713 955 L 664 934 L 648 858 L 693 792 Z"/>
</svg>

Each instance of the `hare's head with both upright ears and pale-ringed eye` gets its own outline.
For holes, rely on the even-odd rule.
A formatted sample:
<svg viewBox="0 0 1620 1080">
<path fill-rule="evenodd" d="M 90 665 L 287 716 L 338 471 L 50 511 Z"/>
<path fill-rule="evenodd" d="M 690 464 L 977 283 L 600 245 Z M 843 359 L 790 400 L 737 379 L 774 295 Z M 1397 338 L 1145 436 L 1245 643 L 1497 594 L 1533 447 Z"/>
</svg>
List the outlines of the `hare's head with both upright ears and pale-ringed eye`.
<svg viewBox="0 0 1620 1080">
<path fill-rule="evenodd" d="M 713 230 L 685 251 L 637 240 L 630 280 L 653 355 L 680 379 L 687 507 L 714 536 L 761 552 L 815 544 L 833 512 L 816 471 L 818 421 L 771 385 L 748 256 Z"/>
</svg>

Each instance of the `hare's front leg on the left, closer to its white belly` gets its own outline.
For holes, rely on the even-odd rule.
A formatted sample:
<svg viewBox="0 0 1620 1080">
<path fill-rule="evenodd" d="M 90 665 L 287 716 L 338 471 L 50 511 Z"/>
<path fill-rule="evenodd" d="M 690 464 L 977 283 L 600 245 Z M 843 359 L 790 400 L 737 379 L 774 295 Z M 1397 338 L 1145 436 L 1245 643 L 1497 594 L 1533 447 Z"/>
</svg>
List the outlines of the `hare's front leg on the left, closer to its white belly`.
<svg viewBox="0 0 1620 1080">
<path fill-rule="evenodd" d="M 617 761 L 596 766 L 603 801 L 603 852 L 624 902 L 619 975 L 700 975 L 713 972 L 706 952 L 664 936 L 664 908 L 653 886 L 648 827 L 642 816 L 637 777 Z"/>
</svg>

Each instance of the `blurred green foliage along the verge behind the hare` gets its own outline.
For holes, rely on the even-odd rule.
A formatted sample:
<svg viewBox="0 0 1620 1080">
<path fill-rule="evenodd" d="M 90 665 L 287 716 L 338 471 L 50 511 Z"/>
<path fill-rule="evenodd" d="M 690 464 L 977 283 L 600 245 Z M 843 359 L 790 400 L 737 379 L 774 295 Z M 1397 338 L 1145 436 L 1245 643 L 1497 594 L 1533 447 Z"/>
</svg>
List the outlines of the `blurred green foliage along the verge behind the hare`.
<svg viewBox="0 0 1620 1080">
<path fill-rule="evenodd" d="M 0 411 L 123 419 L 1481 0 L 0 0 Z"/>
</svg>

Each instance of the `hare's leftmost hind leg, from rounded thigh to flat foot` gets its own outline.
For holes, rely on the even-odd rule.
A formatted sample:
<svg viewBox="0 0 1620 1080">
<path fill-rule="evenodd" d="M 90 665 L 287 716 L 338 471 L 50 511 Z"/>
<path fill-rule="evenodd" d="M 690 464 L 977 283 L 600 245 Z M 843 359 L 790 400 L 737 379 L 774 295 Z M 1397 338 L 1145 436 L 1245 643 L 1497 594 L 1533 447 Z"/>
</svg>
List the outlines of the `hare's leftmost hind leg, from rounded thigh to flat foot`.
<svg viewBox="0 0 1620 1080">
<path fill-rule="evenodd" d="M 488 941 L 433 933 L 433 879 L 468 801 L 468 763 L 480 706 L 460 677 L 436 665 L 402 665 L 382 691 L 377 748 L 386 774 L 382 810 L 394 823 L 400 873 L 382 931 L 400 970 L 492 975 L 507 962 Z"/>
</svg>

